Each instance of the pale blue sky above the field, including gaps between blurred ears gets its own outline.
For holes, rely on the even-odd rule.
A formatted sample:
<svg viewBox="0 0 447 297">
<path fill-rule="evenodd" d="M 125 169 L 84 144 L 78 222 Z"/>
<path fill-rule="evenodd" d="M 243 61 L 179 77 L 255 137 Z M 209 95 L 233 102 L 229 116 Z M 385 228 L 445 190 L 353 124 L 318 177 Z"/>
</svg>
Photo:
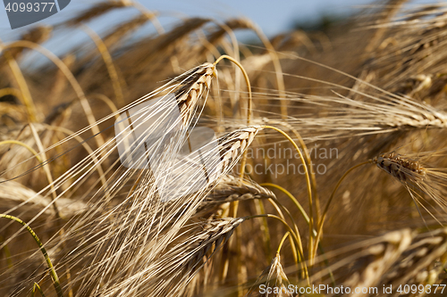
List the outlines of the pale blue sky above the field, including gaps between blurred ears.
<svg viewBox="0 0 447 297">
<path fill-rule="evenodd" d="M 19 1 L 19 0 L 18 0 Z M 44 1 L 44 0 L 42 0 Z M 379 0 L 380 1 L 380 0 Z M 2 1 L 3 2 L 3 1 Z M 99 1 L 72 0 L 63 11 L 57 12 L 41 24 L 57 24 L 82 12 L 92 3 Z M 437 3 L 436 0 L 415 0 L 412 3 Z M 159 12 L 158 19 L 164 28 L 172 28 L 179 23 L 179 18 L 207 17 L 218 21 L 225 21 L 234 17 L 245 16 L 257 23 L 266 33 L 267 37 L 273 37 L 283 31 L 290 30 L 293 24 L 312 23 L 326 16 L 349 15 L 362 7 L 376 3 L 373 0 L 139 0 L 149 10 Z M 98 33 L 104 33 L 114 27 L 120 21 L 130 20 L 139 12 L 134 8 L 114 10 L 105 16 L 89 22 L 89 27 Z M 21 33 L 30 29 L 33 25 L 21 29 L 12 30 L 9 26 L 4 5 L 0 3 L 0 38 L 4 41 L 12 41 Z M 69 34 L 67 33 L 69 32 Z M 151 24 L 144 26 L 137 33 L 137 37 L 155 34 Z M 250 34 L 252 36 L 250 36 Z M 57 38 L 46 43 L 45 46 L 55 54 L 63 54 L 73 45 L 91 42 L 89 37 L 80 30 L 65 30 L 59 32 Z M 240 39 L 255 38 L 253 32 L 240 33 Z"/>
</svg>

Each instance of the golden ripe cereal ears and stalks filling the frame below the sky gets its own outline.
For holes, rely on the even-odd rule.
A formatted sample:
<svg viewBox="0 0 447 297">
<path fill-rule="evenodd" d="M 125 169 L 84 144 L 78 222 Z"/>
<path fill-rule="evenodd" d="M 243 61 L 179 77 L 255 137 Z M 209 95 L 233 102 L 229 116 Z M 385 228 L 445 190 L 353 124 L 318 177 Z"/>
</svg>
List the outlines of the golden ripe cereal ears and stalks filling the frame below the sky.
<svg viewBox="0 0 447 297">
<path fill-rule="evenodd" d="M 129 21 L 89 29 L 117 10 Z M 97 2 L 0 40 L 0 296 L 447 294 L 447 5 L 387 0 L 270 39 L 166 15 Z M 42 45 L 74 33 L 61 56 Z M 131 110 L 175 136 L 153 168 L 122 163 Z M 205 184 L 197 163 L 170 173 L 186 135 L 145 124 L 173 110 L 215 131 Z"/>
</svg>

